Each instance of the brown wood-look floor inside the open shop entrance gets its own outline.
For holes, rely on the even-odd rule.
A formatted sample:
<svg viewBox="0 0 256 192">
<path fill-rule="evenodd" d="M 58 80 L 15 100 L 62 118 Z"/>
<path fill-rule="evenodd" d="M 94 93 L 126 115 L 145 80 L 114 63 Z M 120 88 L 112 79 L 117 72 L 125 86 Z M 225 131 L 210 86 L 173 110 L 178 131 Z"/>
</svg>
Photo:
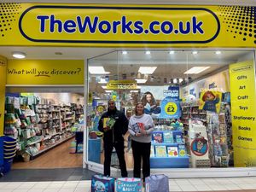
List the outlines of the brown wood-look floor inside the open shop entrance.
<svg viewBox="0 0 256 192">
<path fill-rule="evenodd" d="M 83 154 L 70 154 L 70 139 L 46 153 L 30 160 L 29 162 L 15 162 L 12 169 L 48 169 L 48 168 L 68 168 L 82 167 Z"/>
</svg>

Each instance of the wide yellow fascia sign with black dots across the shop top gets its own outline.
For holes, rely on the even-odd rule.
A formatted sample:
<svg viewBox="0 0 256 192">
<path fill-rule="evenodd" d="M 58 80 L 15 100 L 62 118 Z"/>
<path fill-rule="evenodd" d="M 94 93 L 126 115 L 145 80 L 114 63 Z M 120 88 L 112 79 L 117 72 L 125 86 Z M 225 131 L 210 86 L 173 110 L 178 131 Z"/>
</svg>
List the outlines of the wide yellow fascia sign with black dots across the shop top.
<svg viewBox="0 0 256 192">
<path fill-rule="evenodd" d="M 1 3 L 0 45 L 255 47 L 255 7 Z M 53 14 L 54 13 L 54 14 Z M 238 16 L 237 16 L 238 15 Z M 242 16 L 240 16 L 242 15 Z"/>
</svg>

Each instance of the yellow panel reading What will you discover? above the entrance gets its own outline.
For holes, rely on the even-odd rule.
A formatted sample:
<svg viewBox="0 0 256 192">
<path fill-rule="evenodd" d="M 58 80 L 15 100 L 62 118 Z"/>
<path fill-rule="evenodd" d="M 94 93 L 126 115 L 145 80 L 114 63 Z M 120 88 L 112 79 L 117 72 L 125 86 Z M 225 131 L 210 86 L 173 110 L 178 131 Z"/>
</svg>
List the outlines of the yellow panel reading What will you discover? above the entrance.
<svg viewBox="0 0 256 192">
<path fill-rule="evenodd" d="M 6 84 L 84 84 L 82 60 L 9 60 Z"/>
</svg>

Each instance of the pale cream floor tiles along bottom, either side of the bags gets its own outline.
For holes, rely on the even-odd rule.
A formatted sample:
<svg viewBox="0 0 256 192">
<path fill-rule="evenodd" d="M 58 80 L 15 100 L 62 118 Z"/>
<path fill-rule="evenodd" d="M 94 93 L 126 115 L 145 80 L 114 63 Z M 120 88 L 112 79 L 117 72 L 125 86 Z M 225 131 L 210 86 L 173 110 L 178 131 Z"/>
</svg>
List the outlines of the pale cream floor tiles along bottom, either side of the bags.
<svg viewBox="0 0 256 192">
<path fill-rule="evenodd" d="M 1 181 L 1 179 L 0 179 Z M 255 192 L 256 177 L 170 179 L 170 191 Z M 0 192 L 84 192 L 90 180 L 48 182 L 0 182 Z M 144 190 L 143 190 L 144 191 Z"/>
</svg>

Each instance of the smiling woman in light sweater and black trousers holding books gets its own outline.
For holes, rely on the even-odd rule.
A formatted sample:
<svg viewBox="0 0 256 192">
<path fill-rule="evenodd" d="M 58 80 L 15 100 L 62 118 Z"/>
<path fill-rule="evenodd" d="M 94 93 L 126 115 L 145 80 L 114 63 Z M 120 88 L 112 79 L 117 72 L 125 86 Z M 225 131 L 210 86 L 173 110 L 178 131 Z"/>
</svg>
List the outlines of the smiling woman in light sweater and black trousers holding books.
<svg viewBox="0 0 256 192">
<path fill-rule="evenodd" d="M 142 102 L 135 107 L 135 114 L 129 120 L 131 148 L 134 160 L 133 177 L 141 177 L 141 160 L 143 158 L 143 182 L 150 175 L 151 134 L 154 131 L 154 121 L 149 114 L 144 113 Z"/>
</svg>

